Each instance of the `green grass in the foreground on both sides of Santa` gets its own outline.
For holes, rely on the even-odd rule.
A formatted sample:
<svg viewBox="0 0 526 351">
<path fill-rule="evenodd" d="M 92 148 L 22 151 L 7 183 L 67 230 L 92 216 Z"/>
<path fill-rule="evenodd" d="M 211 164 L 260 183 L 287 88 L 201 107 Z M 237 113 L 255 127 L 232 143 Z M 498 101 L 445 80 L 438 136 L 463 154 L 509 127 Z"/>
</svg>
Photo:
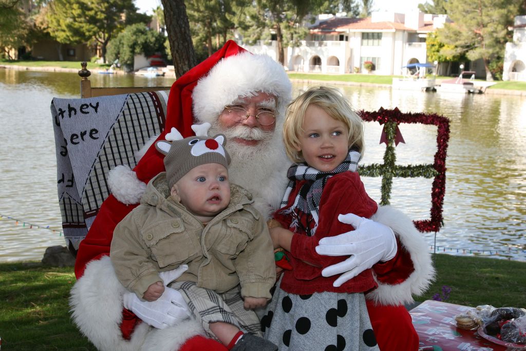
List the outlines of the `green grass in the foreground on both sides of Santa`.
<svg viewBox="0 0 526 351">
<path fill-rule="evenodd" d="M 417 301 L 451 288 L 447 302 L 526 307 L 526 263 L 434 255 L 437 281 Z M 0 337 L 3 349 L 95 350 L 73 325 L 68 307 L 73 267 L 0 263 Z"/>
</svg>

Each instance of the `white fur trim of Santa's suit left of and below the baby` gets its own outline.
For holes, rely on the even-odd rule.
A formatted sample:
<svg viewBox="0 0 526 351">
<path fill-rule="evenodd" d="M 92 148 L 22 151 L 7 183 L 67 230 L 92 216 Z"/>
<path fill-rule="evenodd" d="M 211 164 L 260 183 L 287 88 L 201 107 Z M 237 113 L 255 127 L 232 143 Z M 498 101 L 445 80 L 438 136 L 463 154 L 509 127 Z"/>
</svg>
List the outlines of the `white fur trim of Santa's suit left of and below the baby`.
<svg viewBox="0 0 526 351">
<path fill-rule="evenodd" d="M 156 329 L 146 323 L 136 326 L 130 340 L 122 338 L 125 287 L 119 283 L 109 256 L 86 265 L 84 275 L 71 290 L 69 305 L 75 324 L 99 350 L 174 351 L 195 335 L 204 335 L 199 323 L 181 322 L 175 327 Z"/>
</svg>

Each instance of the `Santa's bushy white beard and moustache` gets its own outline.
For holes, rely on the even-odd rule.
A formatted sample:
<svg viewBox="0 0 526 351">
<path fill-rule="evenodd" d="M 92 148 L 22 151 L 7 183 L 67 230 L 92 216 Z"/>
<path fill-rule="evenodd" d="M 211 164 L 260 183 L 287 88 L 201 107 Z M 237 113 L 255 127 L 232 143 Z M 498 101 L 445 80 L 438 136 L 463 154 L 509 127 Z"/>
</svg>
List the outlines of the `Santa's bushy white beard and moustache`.
<svg viewBox="0 0 526 351">
<path fill-rule="evenodd" d="M 254 207 L 269 216 L 279 208 L 287 185 L 288 161 L 279 132 L 264 132 L 258 128 L 236 126 L 223 128 L 216 121 L 208 135 L 221 133 L 232 162 L 228 168 L 230 182 L 241 185 L 252 193 Z M 235 138 L 260 140 L 256 146 L 247 146 Z"/>
</svg>

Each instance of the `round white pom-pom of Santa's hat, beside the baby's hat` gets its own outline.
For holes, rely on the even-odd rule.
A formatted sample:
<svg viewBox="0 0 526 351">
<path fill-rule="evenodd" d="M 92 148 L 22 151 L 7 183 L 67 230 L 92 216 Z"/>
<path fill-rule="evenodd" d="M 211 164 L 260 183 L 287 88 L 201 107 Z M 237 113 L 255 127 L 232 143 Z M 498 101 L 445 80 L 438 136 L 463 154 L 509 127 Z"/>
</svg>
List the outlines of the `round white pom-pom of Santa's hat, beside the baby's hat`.
<svg viewBox="0 0 526 351">
<path fill-rule="evenodd" d="M 117 200 L 130 205 L 140 202 L 146 183 L 140 181 L 128 166 L 121 165 L 108 172 L 108 187 Z"/>
</svg>

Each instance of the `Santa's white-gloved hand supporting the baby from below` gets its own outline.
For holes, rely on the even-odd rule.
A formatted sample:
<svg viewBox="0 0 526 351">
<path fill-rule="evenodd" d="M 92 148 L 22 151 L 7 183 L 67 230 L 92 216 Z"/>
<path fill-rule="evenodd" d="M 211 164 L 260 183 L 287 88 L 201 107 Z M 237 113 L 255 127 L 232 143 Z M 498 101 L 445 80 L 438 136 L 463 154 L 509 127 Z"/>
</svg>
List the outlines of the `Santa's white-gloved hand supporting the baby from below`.
<svg viewBox="0 0 526 351">
<path fill-rule="evenodd" d="M 159 273 L 159 276 L 166 286 L 180 277 L 187 269 L 186 264 L 181 264 L 175 270 Z M 124 293 L 123 300 L 124 308 L 135 313 L 148 325 L 158 329 L 177 325 L 190 316 L 184 297 L 177 290 L 167 286 L 163 295 L 156 301 L 142 301 L 132 292 Z"/>
</svg>

